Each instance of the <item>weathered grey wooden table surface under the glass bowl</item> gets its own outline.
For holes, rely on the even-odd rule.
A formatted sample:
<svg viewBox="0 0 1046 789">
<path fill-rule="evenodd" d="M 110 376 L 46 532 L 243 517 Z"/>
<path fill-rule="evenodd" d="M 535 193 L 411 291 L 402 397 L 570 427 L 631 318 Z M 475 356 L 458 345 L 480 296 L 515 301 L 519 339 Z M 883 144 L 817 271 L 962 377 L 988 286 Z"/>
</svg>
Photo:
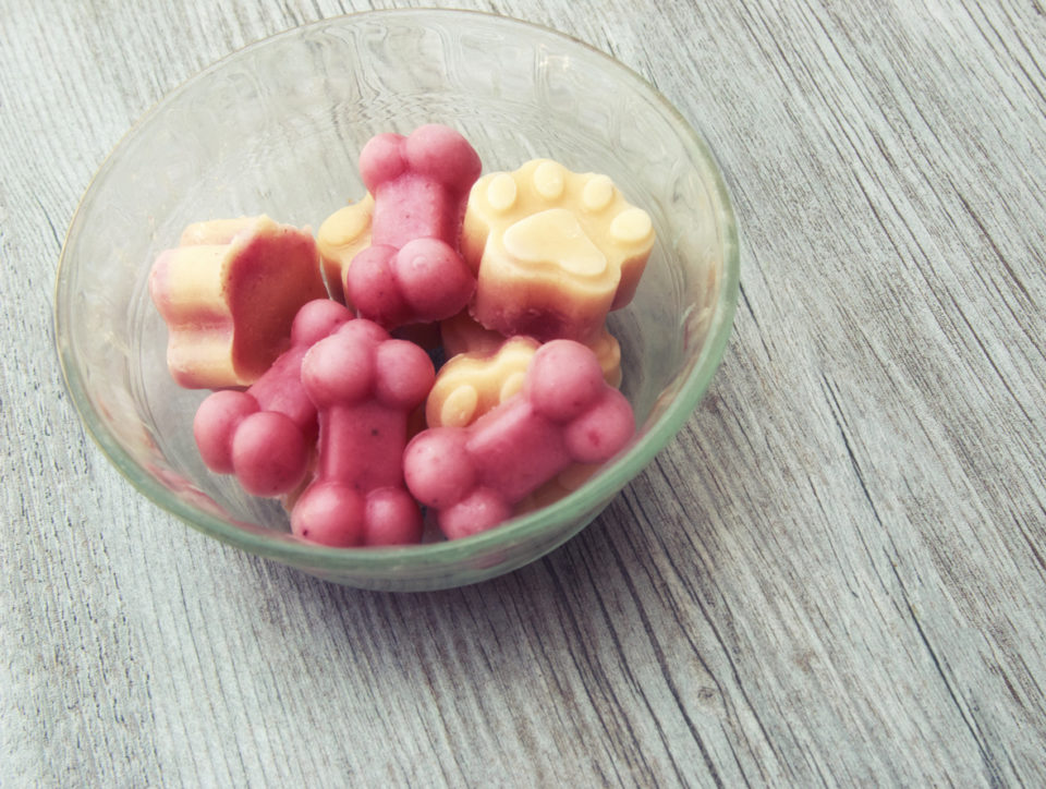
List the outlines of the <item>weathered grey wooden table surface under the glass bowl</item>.
<svg viewBox="0 0 1046 789">
<path fill-rule="evenodd" d="M 1046 784 L 1042 0 L 458 4 L 612 53 L 709 141 L 743 260 L 706 399 L 477 586 L 190 530 L 63 390 L 65 230 L 168 90 L 370 5 L 0 0 L 0 784 Z"/>
</svg>

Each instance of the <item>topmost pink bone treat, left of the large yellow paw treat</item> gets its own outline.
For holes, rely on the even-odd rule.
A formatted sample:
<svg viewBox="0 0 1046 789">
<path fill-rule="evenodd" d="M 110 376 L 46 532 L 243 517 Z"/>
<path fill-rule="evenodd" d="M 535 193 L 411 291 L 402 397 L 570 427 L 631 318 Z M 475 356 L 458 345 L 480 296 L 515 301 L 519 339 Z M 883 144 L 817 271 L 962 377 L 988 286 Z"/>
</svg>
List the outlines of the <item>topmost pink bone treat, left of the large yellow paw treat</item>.
<svg viewBox="0 0 1046 789">
<path fill-rule="evenodd" d="M 379 134 L 360 153 L 374 195 L 370 246 L 344 272 L 361 317 L 393 329 L 450 317 L 476 288 L 459 252 L 461 226 L 482 165 L 453 129 L 424 125 L 410 136 Z"/>
</svg>

